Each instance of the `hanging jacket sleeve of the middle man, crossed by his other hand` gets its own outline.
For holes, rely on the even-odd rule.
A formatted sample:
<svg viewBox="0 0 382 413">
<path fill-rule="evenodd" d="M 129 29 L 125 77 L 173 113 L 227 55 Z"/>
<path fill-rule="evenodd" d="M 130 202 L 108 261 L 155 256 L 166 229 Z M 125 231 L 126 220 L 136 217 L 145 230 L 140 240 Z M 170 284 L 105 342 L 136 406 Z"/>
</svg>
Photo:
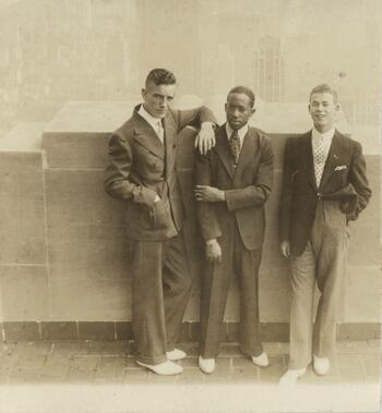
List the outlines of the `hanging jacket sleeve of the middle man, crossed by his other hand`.
<svg viewBox="0 0 382 413">
<path fill-rule="evenodd" d="M 211 185 L 211 157 L 195 151 L 194 184 Z M 204 241 L 208 241 L 222 235 L 222 230 L 217 220 L 215 206 L 213 203 L 196 202 L 196 219 Z"/>
</svg>

